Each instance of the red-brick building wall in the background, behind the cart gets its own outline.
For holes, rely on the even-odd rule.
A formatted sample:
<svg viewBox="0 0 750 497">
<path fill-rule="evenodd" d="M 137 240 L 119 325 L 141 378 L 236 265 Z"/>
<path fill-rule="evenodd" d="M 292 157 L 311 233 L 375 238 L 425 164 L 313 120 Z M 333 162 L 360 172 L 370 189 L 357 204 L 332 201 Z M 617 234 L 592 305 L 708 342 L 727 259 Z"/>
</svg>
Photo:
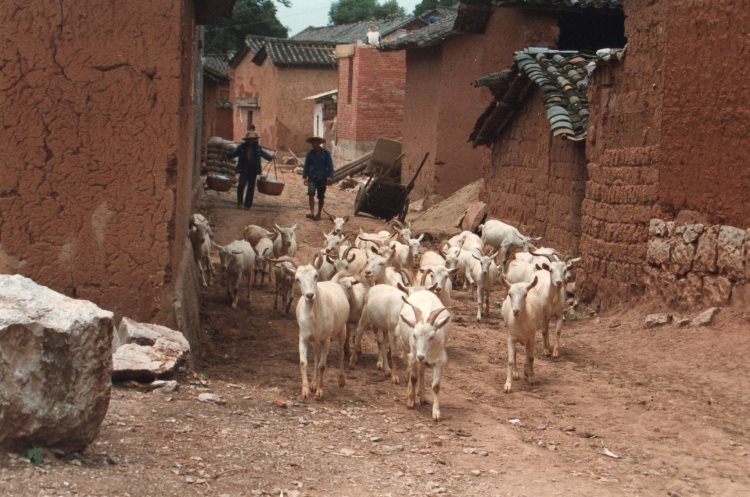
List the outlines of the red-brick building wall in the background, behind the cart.
<svg viewBox="0 0 750 497">
<path fill-rule="evenodd" d="M 356 45 L 354 50 L 353 57 L 339 60 L 337 140 L 339 143 L 342 140 L 374 142 L 381 136 L 400 138 L 406 85 L 405 53 L 381 52 L 369 45 Z M 351 88 L 350 70 L 353 70 Z"/>
</svg>

